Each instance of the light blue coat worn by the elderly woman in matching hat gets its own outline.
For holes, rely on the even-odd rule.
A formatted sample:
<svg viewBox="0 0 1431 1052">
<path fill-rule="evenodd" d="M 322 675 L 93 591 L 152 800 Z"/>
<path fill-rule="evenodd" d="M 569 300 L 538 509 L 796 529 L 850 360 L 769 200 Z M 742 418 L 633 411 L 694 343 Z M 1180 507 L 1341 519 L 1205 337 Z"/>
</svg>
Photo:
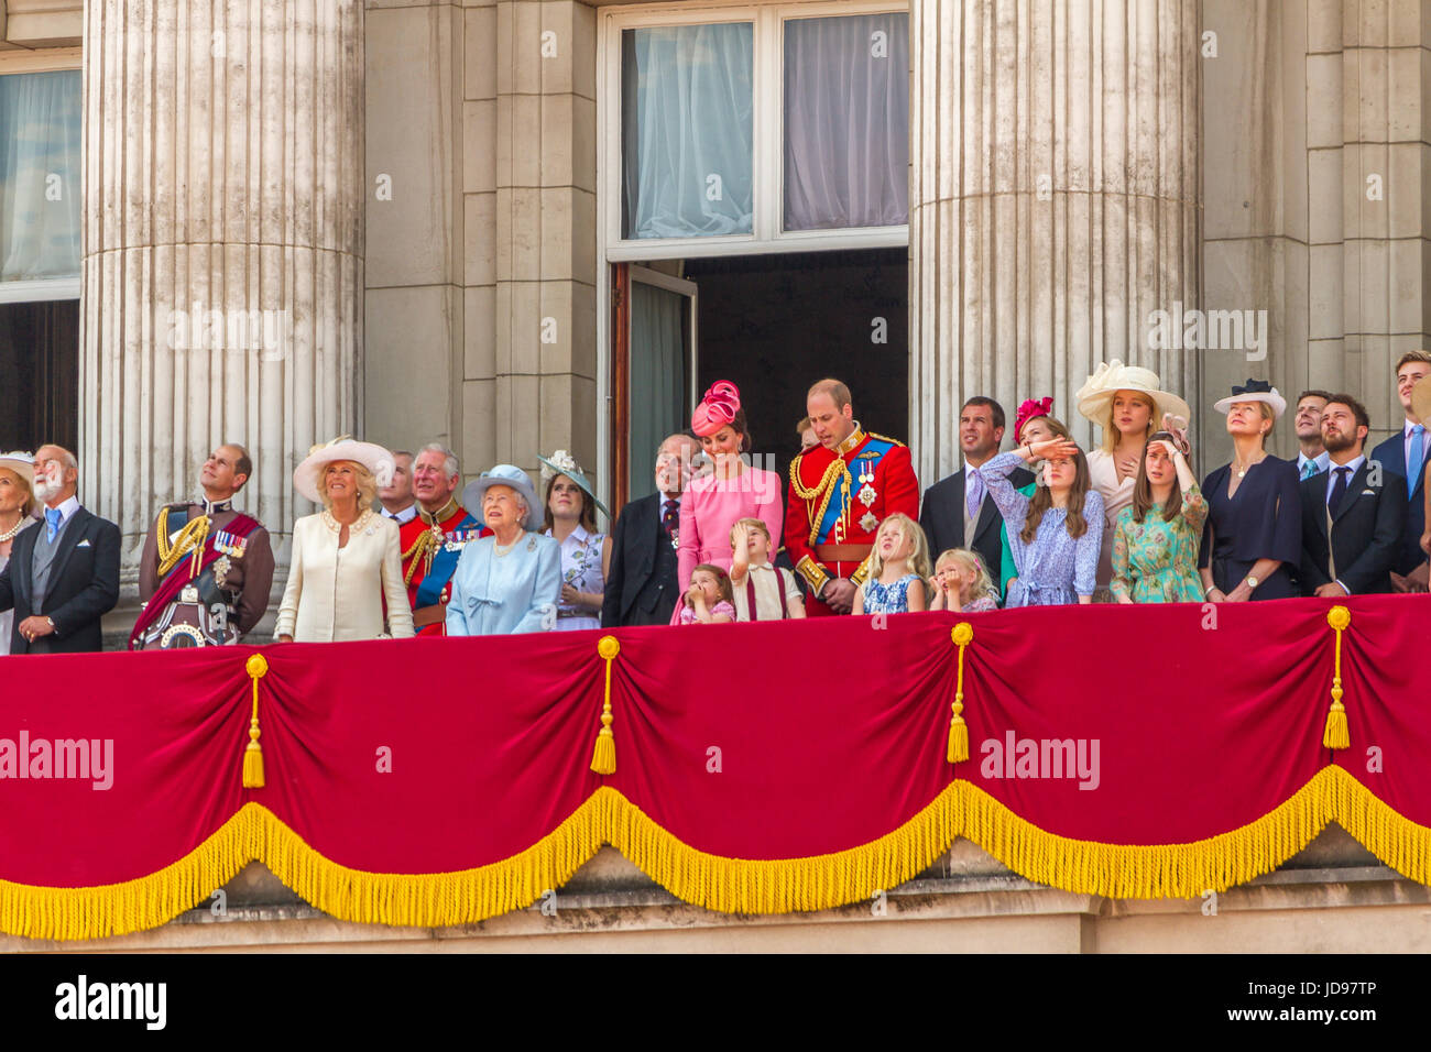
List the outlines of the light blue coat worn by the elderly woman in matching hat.
<svg viewBox="0 0 1431 1052">
<path fill-rule="evenodd" d="M 448 635 L 551 631 L 561 601 L 561 545 L 527 532 L 498 554 L 497 538 L 468 541 L 452 571 Z"/>
</svg>

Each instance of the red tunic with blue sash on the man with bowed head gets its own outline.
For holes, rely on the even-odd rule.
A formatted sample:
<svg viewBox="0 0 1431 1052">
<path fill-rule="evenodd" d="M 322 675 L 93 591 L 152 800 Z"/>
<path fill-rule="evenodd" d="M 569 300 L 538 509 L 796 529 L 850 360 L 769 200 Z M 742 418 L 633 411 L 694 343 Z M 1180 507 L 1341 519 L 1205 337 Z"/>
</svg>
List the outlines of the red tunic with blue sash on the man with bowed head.
<svg viewBox="0 0 1431 1052">
<path fill-rule="evenodd" d="M 856 428 L 840 444 L 839 454 L 817 445 L 796 457 L 790 464 L 786 551 L 811 593 L 819 593 L 833 577 L 863 584 L 867 560 L 857 565 L 827 564 L 814 548 L 820 544 L 873 545 L 880 522 L 893 511 L 919 521 L 919 479 L 903 442 Z M 806 601 L 806 610 L 811 615 L 833 613 L 814 594 Z"/>
</svg>

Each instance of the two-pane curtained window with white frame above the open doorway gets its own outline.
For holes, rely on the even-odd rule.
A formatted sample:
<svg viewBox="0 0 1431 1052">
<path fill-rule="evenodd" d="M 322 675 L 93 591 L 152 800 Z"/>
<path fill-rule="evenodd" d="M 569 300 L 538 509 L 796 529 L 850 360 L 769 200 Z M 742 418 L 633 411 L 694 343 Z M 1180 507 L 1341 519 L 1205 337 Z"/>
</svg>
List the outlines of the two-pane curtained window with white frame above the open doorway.
<svg viewBox="0 0 1431 1052">
<path fill-rule="evenodd" d="M 602 34 L 607 259 L 909 242 L 904 4 L 621 9 Z"/>
</svg>

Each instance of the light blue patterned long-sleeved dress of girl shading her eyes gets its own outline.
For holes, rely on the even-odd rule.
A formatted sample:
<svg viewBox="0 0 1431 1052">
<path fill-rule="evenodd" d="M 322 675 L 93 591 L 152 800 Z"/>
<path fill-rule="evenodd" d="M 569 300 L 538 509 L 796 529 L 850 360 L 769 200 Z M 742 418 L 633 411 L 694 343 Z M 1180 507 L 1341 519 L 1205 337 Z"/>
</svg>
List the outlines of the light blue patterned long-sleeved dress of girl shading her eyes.
<svg viewBox="0 0 1431 1052">
<path fill-rule="evenodd" d="M 1019 578 L 1009 584 L 1005 607 L 1056 607 L 1092 595 L 1098 577 L 1098 554 L 1103 541 L 1103 497 L 1089 487 L 1083 495 L 1083 521 L 1088 530 L 1078 540 L 1065 527 L 1068 511 L 1049 508 L 1039 520 L 1032 544 L 1025 544 L 1023 520 L 1029 498 L 1009 482 L 1009 472 L 1023 467 L 1023 458 L 1002 452 L 977 471 L 989 487 L 989 497 L 999 507 L 1009 534 L 1009 554 Z"/>
</svg>

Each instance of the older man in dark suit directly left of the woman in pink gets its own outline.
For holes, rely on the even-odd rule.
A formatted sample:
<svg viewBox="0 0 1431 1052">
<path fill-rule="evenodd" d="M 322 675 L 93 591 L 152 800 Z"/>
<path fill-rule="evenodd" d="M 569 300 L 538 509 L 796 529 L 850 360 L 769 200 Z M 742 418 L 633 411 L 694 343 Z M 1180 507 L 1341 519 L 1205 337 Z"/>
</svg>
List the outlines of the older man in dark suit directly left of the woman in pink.
<svg viewBox="0 0 1431 1052">
<path fill-rule="evenodd" d="M 601 604 L 601 627 L 670 624 L 680 598 L 675 545 L 681 494 L 691 479 L 700 447 L 690 435 L 671 435 L 655 452 L 655 492 L 621 510 L 611 531 L 611 573 Z"/>
</svg>

